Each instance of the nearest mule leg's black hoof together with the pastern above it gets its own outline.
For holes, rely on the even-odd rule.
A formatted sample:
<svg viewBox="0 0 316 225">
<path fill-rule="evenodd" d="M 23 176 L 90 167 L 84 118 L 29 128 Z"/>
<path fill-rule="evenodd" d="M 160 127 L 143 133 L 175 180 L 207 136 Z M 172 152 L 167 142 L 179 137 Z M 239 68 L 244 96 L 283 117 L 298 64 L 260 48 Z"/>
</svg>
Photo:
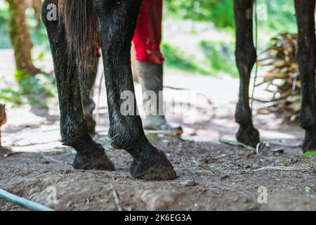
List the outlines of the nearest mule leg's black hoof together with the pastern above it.
<svg viewBox="0 0 316 225">
<path fill-rule="evenodd" d="M 147 181 L 168 181 L 178 178 L 162 150 L 154 148 L 150 143 L 138 148 L 143 148 L 143 157 L 134 159 L 131 165 L 131 174 L 134 178 Z"/>
</svg>

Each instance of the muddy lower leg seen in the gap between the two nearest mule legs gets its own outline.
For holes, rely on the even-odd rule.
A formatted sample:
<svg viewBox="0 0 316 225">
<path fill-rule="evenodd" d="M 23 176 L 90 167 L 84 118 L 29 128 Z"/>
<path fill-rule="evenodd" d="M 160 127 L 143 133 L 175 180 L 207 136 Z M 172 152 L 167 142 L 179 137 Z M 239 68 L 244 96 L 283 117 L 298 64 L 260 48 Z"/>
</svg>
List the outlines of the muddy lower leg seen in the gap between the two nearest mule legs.
<svg viewBox="0 0 316 225">
<path fill-rule="evenodd" d="M 88 68 L 83 72 L 79 65 L 79 82 L 81 87 L 81 101 L 84 108 L 84 119 L 88 126 L 88 133 L 96 134 L 96 121 L 93 119 L 93 110 L 96 103 L 93 101 L 93 87 L 96 83 L 96 75 L 98 74 L 99 58 L 91 57 L 88 59 Z"/>
</svg>

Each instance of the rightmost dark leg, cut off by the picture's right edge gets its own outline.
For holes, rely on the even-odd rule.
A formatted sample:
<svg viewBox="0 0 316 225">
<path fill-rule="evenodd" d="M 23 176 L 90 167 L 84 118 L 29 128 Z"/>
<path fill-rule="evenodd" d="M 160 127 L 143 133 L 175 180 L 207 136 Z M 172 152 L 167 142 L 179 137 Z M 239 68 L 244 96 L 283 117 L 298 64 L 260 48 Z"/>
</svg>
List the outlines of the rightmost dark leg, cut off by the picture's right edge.
<svg viewBox="0 0 316 225">
<path fill-rule="evenodd" d="M 315 105 L 315 0 L 295 0 L 298 23 L 297 59 L 302 79 L 301 127 L 305 129 L 303 150 L 316 150 Z"/>
</svg>

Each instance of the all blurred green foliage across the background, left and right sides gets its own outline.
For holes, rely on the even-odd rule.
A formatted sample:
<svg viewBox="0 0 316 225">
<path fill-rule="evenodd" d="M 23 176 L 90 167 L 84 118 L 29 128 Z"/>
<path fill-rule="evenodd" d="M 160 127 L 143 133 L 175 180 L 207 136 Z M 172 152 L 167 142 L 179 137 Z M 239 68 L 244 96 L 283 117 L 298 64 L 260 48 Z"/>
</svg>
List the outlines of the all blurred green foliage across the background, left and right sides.
<svg viewBox="0 0 316 225">
<path fill-rule="evenodd" d="M 258 21 L 259 37 L 261 39 L 265 38 L 264 41 L 259 41 L 262 45 L 259 47 L 267 46 L 269 44 L 267 39 L 269 40 L 270 37 L 280 32 L 297 32 L 294 1 L 258 0 L 257 4 L 258 6 L 265 6 L 267 9 L 266 19 Z M 32 9 L 27 9 L 26 14 L 29 33 L 32 36 L 34 47 L 37 49 L 34 60 L 44 60 L 44 56 L 49 53 L 44 25 L 40 24 L 38 26 Z M 8 38 L 9 18 L 8 4 L 4 0 L 0 0 L 0 49 L 11 48 L 10 39 Z M 164 18 L 166 20 L 174 18 L 177 21 L 189 20 L 194 21 L 195 24 L 213 23 L 218 31 L 226 32 L 233 41 L 235 40 L 233 0 L 165 0 Z M 199 35 L 199 32 L 192 27 L 192 34 Z M 201 40 L 199 46 L 197 46 L 205 56 L 205 60 L 201 62 L 196 60 L 190 52 L 183 51 L 179 46 L 170 44 L 168 39 L 164 39 L 162 50 L 166 57 L 166 67 L 190 74 L 218 75 L 218 73 L 225 73 L 237 77 L 233 41 Z M 35 96 L 38 94 L 51 96 L 51 93 L 55 92 L 51 76 L 41 74 L 37 77 L 20 79 L 20 75 L 23 75 L 23 73 L 15 73 L 15 80 L 19 84 L 18 88 L 11 89 L 11 87 L 8 87 L 8 89 L 3 89 L 0 99 L 6 101 L 11 99 L 15 103 L 23 103 L 22 96 L 27 96 L 28 101 L 34 103 L 31 98 L 34 94 Z M 30 87 L 32 88 L 30 89 Z"/>
</svg>

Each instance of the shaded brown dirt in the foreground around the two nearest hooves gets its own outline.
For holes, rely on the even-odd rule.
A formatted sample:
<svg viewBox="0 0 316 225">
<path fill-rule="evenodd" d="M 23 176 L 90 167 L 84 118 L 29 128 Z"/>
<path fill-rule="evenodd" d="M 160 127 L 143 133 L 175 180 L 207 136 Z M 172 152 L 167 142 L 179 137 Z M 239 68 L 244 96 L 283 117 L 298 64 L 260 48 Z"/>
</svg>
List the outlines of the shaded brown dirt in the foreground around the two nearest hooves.
<svg viewBox="0 0 316 225">
<path fill-rule="evenodd" d="M 295 156 L 287 149 L 282 153 L 265 148 L 258 156 L 245 148 L 214 142 L 167 136 L 151 139 L 173 163 L 179 176 L 175 181 L 131 178 L 131 157 L 124 150 L 111 148 L 107 153 L 116 165 L 115 172 L 76 171 L 70 165 L 72 149 L 62 148 L 0 158 L 0 187 L 55 210 L 316 209 L 314 167 L 260 170 L 311 165 L 315 158 Z M 110 146 L 104 136 L 97 140 Z M 57 194 L 55 203 L 50 201 L 52 188 Z M 263 203 L 262 190 L 267 191 L 267 203 Z M 4 200 L 0 200 L 0 209 L 22 210 Z"/>
</svg>

